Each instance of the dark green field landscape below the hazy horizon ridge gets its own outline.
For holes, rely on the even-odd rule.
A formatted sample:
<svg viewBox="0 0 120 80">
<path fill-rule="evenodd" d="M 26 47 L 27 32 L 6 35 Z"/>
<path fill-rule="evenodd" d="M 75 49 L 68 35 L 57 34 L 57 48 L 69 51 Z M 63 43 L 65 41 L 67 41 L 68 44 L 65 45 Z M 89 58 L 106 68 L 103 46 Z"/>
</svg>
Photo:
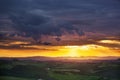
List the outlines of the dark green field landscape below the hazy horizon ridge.
<svg viewBox="0 0 120 80">
<path fill-rule="evenodd" d="M 120 80 L 120 62 L 0 59 L 0 80 Z"/>
</svg>

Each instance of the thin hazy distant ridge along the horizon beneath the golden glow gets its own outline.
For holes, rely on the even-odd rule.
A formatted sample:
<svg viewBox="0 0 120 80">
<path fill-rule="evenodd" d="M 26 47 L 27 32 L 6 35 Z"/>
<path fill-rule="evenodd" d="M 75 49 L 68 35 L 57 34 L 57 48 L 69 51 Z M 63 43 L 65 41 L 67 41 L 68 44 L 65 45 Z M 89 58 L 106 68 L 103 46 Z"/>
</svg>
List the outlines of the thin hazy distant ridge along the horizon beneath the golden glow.
<svg viewBox="0 0 120 80">
<path fill-rule="evenodd" d="M 101 62 L 101 61 L 119 61 L 120 57 L 108 56 L 108 57 L 0 57 L 0 60 L 32 60 L 32 61 L 60 61 L 60 62 Z"/>
</svg>

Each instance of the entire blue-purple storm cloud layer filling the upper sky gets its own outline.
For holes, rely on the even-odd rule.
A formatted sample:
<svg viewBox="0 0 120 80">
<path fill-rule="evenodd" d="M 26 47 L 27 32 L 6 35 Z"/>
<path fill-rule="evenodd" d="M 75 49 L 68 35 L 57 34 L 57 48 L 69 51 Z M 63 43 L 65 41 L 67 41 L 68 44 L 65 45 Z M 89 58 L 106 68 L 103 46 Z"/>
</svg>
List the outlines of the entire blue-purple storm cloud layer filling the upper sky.
<svg viewBox="0 0 120 80">
<path fill-rule="evenodd" d="M 0 0 L 0 37 L 39 40 L 67 32 L 120 34 L 118 0 Z M 114 32 L 114 33 L 113 33 Z"/>
</svg>

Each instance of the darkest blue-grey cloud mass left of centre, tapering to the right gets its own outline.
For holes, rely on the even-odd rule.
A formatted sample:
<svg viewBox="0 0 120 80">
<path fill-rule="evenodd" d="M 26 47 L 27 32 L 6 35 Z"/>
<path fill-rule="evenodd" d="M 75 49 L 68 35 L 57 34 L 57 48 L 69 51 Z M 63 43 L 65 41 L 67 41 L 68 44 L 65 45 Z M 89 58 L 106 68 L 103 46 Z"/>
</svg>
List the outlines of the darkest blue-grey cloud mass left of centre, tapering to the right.
<svg viewBox="0 0 120 80">
<path fill-rule="evenodd" d="M 61 36 L 63 34 L 62 29 L 68 33 L 72 33 L 75 30 L 82 35 L 80 29 L 73 27 L 73 24 L 69 21 L 54 20 L 54 17 L 50 17 L 47 14 L 44 15 L 43 13 L 45 12 L 42 10 L 37 11 L 36 14 L 35 12 L 11 16 L 11 20 L 14 23 L 13 27 L 20 33 L 25 33 L 26 36 L 32 36 L 35 40 L 42 34 Z"/>
</svg>

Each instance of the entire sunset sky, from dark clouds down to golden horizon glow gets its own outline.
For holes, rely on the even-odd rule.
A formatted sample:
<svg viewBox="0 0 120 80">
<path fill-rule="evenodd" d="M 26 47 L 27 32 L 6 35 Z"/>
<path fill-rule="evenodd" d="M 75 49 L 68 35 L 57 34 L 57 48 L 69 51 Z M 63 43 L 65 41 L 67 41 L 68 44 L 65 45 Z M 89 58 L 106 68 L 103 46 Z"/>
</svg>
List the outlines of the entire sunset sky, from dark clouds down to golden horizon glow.
<svg viewBox="0 0 120 80">
<path fill-rule="evenodd" d="M 0 57 L 120 57 L 120 0 L 0 0 Z"/>
</svg>

